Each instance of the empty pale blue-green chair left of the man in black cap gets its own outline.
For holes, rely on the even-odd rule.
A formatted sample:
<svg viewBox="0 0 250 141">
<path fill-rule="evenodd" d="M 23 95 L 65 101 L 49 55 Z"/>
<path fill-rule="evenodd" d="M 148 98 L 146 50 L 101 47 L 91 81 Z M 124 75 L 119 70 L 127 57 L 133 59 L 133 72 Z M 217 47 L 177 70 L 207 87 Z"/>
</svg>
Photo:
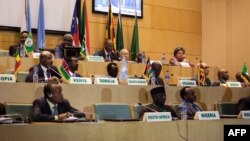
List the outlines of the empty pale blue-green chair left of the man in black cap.
<svg viewBox="0 0 250 141">
<path fill-rule="evenodd" d="M 128 104 L 96 103 L 94 111 L 96 120 L 130 120 L 132 114 Z"/>
</svg>

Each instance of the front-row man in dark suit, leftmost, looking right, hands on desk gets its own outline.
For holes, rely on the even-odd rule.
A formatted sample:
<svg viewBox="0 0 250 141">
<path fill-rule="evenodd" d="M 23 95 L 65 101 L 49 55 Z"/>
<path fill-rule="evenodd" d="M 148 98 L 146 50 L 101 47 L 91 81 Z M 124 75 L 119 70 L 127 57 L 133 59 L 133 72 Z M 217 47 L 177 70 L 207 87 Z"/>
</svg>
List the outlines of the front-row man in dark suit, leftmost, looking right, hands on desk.
<svg viewBox="0 0 250 141">
<path fill-rule="evenodd" d="M 84 113 L 71 107 L 68 100 L 63 98 L 59 79 L 51 77 L 43 88 L 44 97 L 33 101 L 33 121 L 57 121 L 69 116 L 85 117 Z"/>
</svg>

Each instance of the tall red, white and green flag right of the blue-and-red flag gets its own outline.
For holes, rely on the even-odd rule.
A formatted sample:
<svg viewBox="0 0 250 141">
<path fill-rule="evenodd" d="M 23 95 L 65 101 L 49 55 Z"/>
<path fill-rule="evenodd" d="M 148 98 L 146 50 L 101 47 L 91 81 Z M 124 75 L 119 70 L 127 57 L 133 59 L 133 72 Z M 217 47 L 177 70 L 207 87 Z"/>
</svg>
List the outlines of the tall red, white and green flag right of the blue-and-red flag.
<svg viewBox="0 0 250 141">
<path fill-rule="evenodd" d="M 89 24 L 88 24 L 88 14 L 86 7 L 86 0 L 83 3 L 82 9 L 82 19 L 81 19 L 81 55 L 86 56 L 90 54 L 90 42 L 89 42 Z"/>
</svg>

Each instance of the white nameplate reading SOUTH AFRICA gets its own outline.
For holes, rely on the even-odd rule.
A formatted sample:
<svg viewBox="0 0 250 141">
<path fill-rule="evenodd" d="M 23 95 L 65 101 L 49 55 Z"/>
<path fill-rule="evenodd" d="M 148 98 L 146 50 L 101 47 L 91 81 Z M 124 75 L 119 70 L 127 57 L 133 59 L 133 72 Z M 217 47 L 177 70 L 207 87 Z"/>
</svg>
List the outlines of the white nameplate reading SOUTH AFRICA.
<svg viewBox="0 0 250 141">
<path fill-rule="evenodd" d="M 144 113 L 143 121 L 147 122 L 172 121 L 172 116 L 170 112 L 146 112 Z"/>
</svg>

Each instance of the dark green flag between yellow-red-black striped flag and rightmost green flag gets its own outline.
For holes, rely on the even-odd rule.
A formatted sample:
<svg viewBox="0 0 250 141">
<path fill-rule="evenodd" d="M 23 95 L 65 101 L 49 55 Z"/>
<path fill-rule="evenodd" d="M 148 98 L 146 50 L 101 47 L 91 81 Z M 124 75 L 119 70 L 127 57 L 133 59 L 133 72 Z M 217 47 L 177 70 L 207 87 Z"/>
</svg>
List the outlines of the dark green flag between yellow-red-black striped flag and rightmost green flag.
<svg viewBox="0 0 250 141">
<path fill-rule="evenodd" d="M 122 32 L 122 17 L 121 17 L 121 1 L 119 0 L 119 15 L 118 15 L 118 23 L 116 30 L 116 47 L 117 50 L 120 51 L 124 48 L 123 44 L 123 32 Z"/>
</svg>

